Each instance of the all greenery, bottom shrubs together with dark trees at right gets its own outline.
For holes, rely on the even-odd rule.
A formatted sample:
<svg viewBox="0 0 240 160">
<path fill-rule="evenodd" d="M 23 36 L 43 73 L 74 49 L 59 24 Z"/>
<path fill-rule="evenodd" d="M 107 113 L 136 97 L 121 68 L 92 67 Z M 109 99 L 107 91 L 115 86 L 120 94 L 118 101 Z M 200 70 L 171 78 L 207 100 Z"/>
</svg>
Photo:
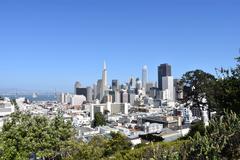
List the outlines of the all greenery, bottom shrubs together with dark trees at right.
<svg viewBox="0 0 240 160">
<path fill-rule="evenodd" d="M 97 136 L 87 144 L 74 138 L 74 129 L 61 116 L 49 120 L 16 112 L 0 133 L 0 159 L 29 159 L 31 153 L 46 160 L 240 159 L 240 58 L 237 62 L 231 70 L 221 69 L 218 77 L 201 70 L 184 74 L 181 103 L 192 101 L 191 107 L 208 106 L 217 114 L 208 127 L 193 126 L 178 141 L 151 142 L 132 149 L 126 137 L 111 133 L 109 138 Z"/>
</svg>

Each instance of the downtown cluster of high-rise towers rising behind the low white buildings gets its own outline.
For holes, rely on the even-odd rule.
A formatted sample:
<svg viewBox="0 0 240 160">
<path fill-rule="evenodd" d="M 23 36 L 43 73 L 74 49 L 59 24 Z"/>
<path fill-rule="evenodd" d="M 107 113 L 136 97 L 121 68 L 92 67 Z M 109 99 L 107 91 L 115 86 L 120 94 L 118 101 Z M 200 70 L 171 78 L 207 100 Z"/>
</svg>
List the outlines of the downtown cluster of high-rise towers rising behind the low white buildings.
<svg viewBox="0 0 240 160">
<path fill-rule="evenodd" d="M 138 97 L 148 97 L 156 105 L 173 103 L 179 94 L 176 92 L 177 79 L 172 76 L 172 68 L 169 64 L 158 66 L 158 82 L 153 83 L 148 80 L 148 67 L 142 68 L 142 78 L 130 77 L 128 82 L 120 84 L 120 80 L 113 79 L 112 84 L 108 84 L 107 65 L 104 62 L 102 78 L 93 87 L 82 87 L 80 82 L 75 84 L 75 94 L 83 95 L 87 102 L 99 100 L 100 103 L 130 103 L 134 105 Z"/>
</svg>

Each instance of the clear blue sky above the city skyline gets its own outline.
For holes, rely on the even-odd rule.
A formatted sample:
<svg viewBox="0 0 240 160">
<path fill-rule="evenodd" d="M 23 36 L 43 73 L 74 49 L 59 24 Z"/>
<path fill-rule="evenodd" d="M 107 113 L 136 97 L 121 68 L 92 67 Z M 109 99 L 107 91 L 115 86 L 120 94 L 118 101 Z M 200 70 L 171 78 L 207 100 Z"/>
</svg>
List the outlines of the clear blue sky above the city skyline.
<svg viewBox="0 0 240 160">
<path fill-rule="evenodd" d="M 0 88 L 72 90 L 91 85 L 106 60 L 122 82 L 157 66 L 181 77 L 234 66 L 239 0 L 1 0 Z"/>
</svg>

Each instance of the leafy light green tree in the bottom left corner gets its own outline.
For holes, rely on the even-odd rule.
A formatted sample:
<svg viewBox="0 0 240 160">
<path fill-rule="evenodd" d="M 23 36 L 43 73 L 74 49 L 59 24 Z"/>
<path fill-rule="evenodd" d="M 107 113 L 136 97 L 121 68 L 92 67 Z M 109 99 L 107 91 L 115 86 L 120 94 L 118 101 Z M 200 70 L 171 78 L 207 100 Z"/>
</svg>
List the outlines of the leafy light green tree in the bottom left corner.
<svg viewBox="0 0 240 160">
<path fill-rule="evenodd" d="M 70 123 L 62 117 L 50 120 L 44 116 L 15 112 L 4 122 L 1 159 L 28 159 L 30 153 L 45 159 L 63 157 L 62 148 L 74 135 Z"/>
</svg>

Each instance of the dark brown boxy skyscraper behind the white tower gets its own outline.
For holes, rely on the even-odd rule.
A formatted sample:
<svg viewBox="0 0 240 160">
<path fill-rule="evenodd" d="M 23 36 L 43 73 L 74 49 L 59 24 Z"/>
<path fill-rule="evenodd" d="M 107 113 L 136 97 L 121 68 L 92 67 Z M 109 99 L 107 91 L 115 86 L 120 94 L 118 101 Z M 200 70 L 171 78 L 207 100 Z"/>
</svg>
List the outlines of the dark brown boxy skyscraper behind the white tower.
<svg viewBox="0 0 240 160">
<path fill-rule="evenodd" d="M 161 64 L 158 66 L 158 88 L 160 90 L 163 89 L 162 87 L 162 78 L 172 76 L 171 65 L 169 64 Z"/>
</svg>

